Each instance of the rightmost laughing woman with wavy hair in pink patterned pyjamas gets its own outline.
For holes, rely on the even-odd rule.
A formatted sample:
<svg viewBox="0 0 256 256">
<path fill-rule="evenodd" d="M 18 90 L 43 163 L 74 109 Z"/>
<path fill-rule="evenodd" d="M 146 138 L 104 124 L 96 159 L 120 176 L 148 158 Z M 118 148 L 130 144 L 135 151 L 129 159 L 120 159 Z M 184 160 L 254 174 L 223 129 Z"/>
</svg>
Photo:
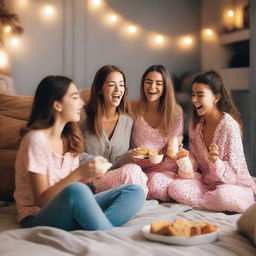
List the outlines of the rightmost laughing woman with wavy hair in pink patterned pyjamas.
<svg viewBox="0 0 256 256">
<path fill-rule="evenodd" d="M 195 205 L 203 208 L 241 213 L 255 202 L 256 185 L 243 152 L 240 114 L 218 73 L 195 77 L 192 103 L 190 153 L 202 180 L 190 193 L 179 181 L 174 182 L 175 199 L 184 203 L 194 198 Z"/>
</svg>

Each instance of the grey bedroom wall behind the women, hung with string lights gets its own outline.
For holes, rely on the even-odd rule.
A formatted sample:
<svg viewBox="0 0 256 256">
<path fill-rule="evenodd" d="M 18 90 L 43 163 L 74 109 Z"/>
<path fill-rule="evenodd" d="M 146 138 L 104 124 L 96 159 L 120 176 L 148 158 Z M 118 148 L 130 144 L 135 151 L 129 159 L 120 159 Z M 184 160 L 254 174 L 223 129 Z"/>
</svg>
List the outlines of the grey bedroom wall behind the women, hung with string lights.
<svg viewBox="0 0 256 256">
<path fill-rule="evenodd" d="M 200 70 L 200 0 L 108 0 L 106 8 L 97 10 L 90 2 L 9 1 L 25 29 L 20 45 L 11 49 L 19 94 L 33 94 L 48 74 L 64 74 L 79 88 L 89 87 L 96 70 L 111 63 L 127 74 L 129 98 L 133 99 L 138 96 L 142 73 L 152 64 L 163 64 L 176 74 Z M 46 4 L 56 10 L 49 19 L 41 13 Z M 122 25 L 111 27 L 103 22 L 110 9 L 120 14 Z M 126 21 L 138 25 L 133 38 L 123 33 Z M 153 47 L 147 41 L 151 32 L 165 34 L 169 41 L 164 47 Z M 187 34 L 195 36 L 195 44 L 181 49 L 177 40 Z"/>
</svg>

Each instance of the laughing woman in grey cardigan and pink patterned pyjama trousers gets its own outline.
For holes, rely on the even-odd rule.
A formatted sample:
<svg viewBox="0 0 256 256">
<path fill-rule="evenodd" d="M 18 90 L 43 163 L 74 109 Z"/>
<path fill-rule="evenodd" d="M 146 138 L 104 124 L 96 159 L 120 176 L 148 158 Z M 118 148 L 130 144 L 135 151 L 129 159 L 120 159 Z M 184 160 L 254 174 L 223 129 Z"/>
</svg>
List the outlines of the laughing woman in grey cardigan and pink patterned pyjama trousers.
<svg viewBox="0 0 256 256">
<path fill-rule="evenodd" d="M 91 96 L 85 105 L 81 128 L 86 142 L 86 153 L 80 156 L 83 164 L 100 155 L 107 158 L 113 169 L 92 179 L 96 193 L 122 184 L 138 184 L 147 194 L 147 177 L 141 168 L 131 162 L 129 153 L 133 119 L 127 101 L 124 73 L 116 66 L 100 68 L 91 87 Z M 117 169 L 116 169 L 117 168 Z"/>
</svg>

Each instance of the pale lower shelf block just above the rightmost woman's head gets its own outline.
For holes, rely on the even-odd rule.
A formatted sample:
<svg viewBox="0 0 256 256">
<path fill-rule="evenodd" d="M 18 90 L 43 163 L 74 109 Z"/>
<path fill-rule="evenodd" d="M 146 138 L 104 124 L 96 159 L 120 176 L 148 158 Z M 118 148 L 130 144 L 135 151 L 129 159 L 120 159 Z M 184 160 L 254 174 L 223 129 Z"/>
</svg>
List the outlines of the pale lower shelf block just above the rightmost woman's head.
<svg viewBox="0 0 256 256">
<path fill-rule="evenodd" d="M 249 90 L 250 68 L 227 68 L 219 69 L 218 72 L 230 90 Z"/>
</svg>

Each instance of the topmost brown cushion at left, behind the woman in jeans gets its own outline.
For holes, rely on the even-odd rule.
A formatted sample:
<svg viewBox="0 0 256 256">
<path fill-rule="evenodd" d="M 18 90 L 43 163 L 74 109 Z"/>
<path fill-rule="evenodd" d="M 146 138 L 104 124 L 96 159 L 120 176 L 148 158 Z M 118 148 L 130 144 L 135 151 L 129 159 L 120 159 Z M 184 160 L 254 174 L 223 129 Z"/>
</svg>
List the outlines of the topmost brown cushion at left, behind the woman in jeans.
<svg viewBox="0 0 256 256">
<path fill-rule="evenodd" d="M 28 120 L 33 96 L 0 94 L 0 114 L 7 117 Z"/>
</svg>

